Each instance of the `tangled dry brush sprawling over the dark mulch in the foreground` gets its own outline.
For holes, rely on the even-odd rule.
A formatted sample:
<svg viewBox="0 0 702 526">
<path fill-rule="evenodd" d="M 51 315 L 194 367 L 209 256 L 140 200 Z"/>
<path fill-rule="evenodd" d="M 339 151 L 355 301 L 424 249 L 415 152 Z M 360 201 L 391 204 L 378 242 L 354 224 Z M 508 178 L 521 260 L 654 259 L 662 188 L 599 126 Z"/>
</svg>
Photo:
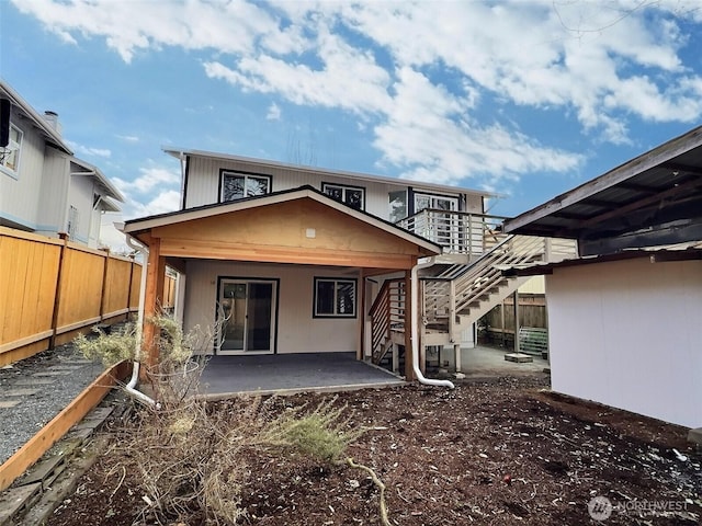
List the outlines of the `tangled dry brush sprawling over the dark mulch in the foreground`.
<svg viewBox="0 0 702 526">
<path fill-rule="evenodd" d="M 208 407 L 192 399 L 169 410 L 141 409 L 135 426 L 116 443 L 116 457 L 137 472 L 150 503 L 144 514 L 173 521 L 239 524 L 241 494 L 257 455 L 298 454 L 317 464 L 341 465 L 360 431 L 349 431 L 344 408 L 333 400 L 279 411 L 275 399 L 237 398 Z"/>
</svg>

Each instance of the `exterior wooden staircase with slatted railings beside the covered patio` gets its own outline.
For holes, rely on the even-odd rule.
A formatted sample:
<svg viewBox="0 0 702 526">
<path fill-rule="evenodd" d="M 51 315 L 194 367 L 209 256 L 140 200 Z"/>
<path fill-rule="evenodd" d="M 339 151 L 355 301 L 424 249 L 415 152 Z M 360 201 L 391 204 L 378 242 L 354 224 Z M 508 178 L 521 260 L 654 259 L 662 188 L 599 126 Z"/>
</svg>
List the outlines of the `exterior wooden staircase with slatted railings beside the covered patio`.
<svg viewBox="0 0 702 526">
<path fill-rule="evenodd" d="M 460 345 L 464 331 L 529 279 L 502 271 L 576 255 L 570 240 L 509 236 L 469 263 L 439 260 L 428 270 L 433 273 L 420 276 L 420 348 Z M 405 281 L 385 281 L 370 315 L 372 362 L 378 365 L 393 352 L 396 368 L 398 346 L 405 344 Z"/>
</svg>

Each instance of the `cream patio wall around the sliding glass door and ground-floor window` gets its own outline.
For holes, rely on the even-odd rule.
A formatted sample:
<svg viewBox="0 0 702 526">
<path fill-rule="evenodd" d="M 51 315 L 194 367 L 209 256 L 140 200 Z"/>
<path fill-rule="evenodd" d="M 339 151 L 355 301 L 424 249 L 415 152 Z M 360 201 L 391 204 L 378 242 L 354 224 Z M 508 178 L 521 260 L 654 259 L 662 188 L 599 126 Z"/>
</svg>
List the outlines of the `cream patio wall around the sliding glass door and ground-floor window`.
<svg viewBox="0 0 702 526">
<path fill-rule="evenodd" d="M 213 325 L 218 277 L 279 278 L 279 353 L 354 352 L 358 319 L 313 318 L 315 276 L 355 277 L 328 267 L 189 261 L 184 328 Z"/>
</svg>

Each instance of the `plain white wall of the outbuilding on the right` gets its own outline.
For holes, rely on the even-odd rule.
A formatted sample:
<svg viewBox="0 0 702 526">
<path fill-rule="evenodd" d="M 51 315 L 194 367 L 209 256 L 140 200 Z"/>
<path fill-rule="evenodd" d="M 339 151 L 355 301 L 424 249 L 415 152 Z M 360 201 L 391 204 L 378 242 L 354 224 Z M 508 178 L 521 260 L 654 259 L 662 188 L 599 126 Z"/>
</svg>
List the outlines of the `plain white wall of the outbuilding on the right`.
<svg viewBox="0 0 702 526">
<path fill-rule="evenodd" d="M 556 268 L 546 295 L 554 391 L 702 425 L 702 262 Z"/>
</svg>

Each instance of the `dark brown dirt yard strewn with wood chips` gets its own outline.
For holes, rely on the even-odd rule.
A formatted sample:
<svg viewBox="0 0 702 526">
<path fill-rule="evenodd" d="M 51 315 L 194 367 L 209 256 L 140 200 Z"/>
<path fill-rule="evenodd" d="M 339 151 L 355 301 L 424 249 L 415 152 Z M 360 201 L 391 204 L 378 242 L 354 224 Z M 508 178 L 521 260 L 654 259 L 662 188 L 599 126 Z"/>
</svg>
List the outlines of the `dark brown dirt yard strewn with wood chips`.
<svg viewBox="0 0 702 526">
<path fill-rule="evenodd" d="M 348 454 L 385 483 L 393 525 L 700 524 L 702 459 L 687 430 L 546 387 L 546 379 L 499 378 L 455 390 L 347 392 L 337 403 L 348 404 L 351 425 L 369 428 Z M 120 461 L 101 456 L 48 525 L 156 524 Z M 382 524 L 378 490 L 359 469 L 268 455 L 252 455 L 247 469 L 241 524 Z"/>
</svg>

